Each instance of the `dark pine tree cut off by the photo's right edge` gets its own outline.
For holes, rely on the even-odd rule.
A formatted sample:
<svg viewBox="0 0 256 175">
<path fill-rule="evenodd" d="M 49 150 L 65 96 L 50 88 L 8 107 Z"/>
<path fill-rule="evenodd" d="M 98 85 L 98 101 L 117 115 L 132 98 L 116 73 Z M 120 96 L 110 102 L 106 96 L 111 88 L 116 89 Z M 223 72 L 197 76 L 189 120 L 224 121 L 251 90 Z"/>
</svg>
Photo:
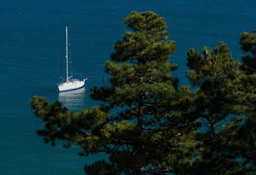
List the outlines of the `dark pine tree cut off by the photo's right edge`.
<svg viewBox="0 0 256 175">
<path fill-rule="evenodd" d="M 234 139 L 240 145 L 243 164 L 256 173 L 256 30 L 252 34 L 241 33 L 240 44 L 241 49 L 247 53 L 242 57 L 243 76 L 237 97 L 244 122 L 238 126 Z"/>
</svg>

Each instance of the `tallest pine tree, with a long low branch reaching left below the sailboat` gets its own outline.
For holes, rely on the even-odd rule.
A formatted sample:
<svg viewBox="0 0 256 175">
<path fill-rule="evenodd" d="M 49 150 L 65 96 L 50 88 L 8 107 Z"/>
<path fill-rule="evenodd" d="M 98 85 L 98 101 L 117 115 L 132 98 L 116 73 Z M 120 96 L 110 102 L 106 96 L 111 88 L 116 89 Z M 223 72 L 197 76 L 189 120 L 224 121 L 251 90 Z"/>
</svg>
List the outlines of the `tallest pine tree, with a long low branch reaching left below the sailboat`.
<svg viewBox="0 0 256 175">
<path fill-rule="evenodd" d="M 131 31 L 105 63 L 110 86 L 92 89 L 102 105 L 76 113 L 35 96 L 32 108 L 45 126 L 38 134 L 52 145 L 55 139 L 65 140 L 65 147 L 79 145 L 82 156 L 110 155 L 86 165 L 87 174 L 184 172 L 194 159 L 197 126 L 193 93 L 170 74 L 177 68 L 170 64 L 176 43 L 167 39 L 164 18 L 153 12 L 132 12 L 124 22 Z"/>
</svg>

